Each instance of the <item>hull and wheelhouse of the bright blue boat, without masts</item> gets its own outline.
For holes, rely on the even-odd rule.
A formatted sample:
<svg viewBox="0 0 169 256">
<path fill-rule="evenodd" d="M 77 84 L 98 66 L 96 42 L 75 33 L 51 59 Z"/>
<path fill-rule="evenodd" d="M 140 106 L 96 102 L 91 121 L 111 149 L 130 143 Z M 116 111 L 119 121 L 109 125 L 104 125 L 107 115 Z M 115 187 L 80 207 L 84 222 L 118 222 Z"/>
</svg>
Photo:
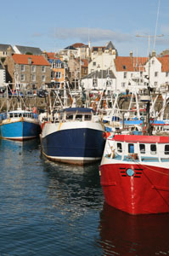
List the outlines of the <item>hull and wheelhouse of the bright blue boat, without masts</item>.
<svg viewBox="0 0 169 256">
<path fill-rule="evenodd" d="M 17 110 L 1 114 L 0 135 L 2 138 L 24 141 L 38 137 L 41 131 L 35 111 Z"/>
</svg>

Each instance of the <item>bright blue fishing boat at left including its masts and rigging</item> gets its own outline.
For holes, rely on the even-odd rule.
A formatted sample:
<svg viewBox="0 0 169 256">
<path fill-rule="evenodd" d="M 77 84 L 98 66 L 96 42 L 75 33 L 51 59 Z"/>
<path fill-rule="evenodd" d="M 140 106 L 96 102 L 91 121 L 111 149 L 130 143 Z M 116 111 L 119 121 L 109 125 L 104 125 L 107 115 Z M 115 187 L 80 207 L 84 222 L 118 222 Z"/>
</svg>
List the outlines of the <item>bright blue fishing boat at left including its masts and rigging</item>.
<svg viewBox="0 0 169 256">
<path fill-rule="evenodd" d="M 7 110 L 0 114 L 0 137 L 24 141 L 39 136 L 41 126 L 37 119 L 37 108 L 27 108 L 20 93 L 20 84 L 14 84 L 16 96 L 8 97 L 11 91 L 7 84 Z"/>
</svg>

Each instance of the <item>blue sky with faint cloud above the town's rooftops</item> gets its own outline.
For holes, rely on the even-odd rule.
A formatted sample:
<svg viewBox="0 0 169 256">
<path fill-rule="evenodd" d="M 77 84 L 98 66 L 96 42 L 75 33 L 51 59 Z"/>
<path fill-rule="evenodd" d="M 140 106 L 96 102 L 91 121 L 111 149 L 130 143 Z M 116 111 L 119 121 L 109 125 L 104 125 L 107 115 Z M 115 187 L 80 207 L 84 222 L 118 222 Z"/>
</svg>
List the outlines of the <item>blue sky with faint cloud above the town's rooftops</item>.
<svg viewBox="0 0 169 256">
<path fill-rule="evenodd" d="M 112 41 L 123 56 L 169 49 L 169 0 L 8 0 L 0 20 L 0 44 L 58 51 L 89 38 L 92 46 Z"/>
</svg>

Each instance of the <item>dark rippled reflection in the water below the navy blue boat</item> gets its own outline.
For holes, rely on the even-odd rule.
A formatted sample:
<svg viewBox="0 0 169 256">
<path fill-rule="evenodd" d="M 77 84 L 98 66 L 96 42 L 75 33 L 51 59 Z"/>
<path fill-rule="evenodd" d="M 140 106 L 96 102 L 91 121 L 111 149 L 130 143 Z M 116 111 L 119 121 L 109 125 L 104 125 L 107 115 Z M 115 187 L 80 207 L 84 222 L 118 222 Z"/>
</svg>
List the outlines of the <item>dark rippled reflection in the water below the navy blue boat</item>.
<svg viewBox="0 0 169 256">
<path fill-rule="evenodd" d="M 99 165 L 71 166 L 46 160 L 48 194 L 55 207 L 73 207 L 76 211 L 100 207 L 103 193 L 100 188 Z M 78 210 L 77 210 L 78 208 Z"/>
</svg>

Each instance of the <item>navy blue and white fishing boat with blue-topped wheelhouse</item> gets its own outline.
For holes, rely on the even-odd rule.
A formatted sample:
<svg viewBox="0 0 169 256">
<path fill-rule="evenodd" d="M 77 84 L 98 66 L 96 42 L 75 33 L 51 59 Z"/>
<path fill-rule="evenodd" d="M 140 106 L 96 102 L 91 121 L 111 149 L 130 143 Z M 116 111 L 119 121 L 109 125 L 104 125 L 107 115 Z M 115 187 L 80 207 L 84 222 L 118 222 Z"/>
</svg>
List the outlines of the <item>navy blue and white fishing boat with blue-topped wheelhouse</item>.
<svg viewBox="0 0 169 256">
<path fill-rule="evenodd" d="M 92 108 L 65 108 L 42 123 L 42 154 L 49 160 L 84 165 L 104 152 L 104 125 Z"/>
</svg>

